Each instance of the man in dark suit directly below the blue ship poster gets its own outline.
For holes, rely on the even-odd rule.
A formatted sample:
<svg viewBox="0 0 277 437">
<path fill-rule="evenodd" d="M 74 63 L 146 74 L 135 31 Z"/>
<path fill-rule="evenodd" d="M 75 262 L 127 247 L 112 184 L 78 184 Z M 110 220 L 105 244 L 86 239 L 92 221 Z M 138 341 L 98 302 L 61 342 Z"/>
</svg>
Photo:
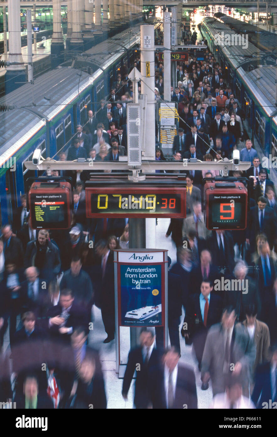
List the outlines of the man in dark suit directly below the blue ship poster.
<svg viewBox="0 0 277 437">
<path fill-rule="evenodd" d="M 123 379 L 122 396 L 127 400 L 127 395 L 132 382 L 133 374 L 137 371 L 135 382 L 134 405 L 136 408 L 150 406 L 149 371 L 159 368 L 161 354 L 154 347 L 155 336 L 151 331 L 144 329 L 140 334 L 140 346 L 130 350 L 128 362 Z"/>
</svg>

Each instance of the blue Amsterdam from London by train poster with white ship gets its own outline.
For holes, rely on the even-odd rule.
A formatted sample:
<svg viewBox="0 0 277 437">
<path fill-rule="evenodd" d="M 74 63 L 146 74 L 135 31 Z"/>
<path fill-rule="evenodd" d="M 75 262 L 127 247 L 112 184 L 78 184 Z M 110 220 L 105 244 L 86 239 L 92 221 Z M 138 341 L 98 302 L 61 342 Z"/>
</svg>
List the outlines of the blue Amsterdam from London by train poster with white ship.
<svg viewBox="0 0 277 437">
<path fill-rule="evenodd" d="M 121 325 L 161 325 L 161 264 L 121 265 L 120 284 Z"/>
</svg>

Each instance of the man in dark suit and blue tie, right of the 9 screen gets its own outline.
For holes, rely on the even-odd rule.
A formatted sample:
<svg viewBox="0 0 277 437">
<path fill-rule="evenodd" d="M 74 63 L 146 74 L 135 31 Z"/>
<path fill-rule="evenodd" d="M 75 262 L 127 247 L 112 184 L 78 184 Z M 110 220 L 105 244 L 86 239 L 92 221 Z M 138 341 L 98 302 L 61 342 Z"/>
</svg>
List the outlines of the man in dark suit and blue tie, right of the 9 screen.
<svg viewBox="0 0 277 437">
<path fill-rule="evenodd" d="M 277 220 L 273 208 L 269 208 L 267 199 L 258 198 L 258 205 L 250 208 L 246 229 L 246 243 L 250 244 L 251 253 L 256 251 L 256 236 L 265 234 L 272 250 L 276 240 Z"/>
</svg>

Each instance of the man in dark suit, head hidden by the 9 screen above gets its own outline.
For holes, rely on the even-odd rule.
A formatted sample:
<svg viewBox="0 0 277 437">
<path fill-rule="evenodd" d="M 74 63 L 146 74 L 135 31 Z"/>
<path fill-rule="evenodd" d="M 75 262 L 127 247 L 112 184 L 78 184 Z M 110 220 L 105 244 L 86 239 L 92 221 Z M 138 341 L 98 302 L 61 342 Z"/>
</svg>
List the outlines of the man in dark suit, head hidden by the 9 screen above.
<svg viewBox="0 0 277 437">
<path fill-rule="evenodd" d="M 228 231 L 212 231 L 212 237 L 207 240 L 207 245 L 212 253 L 212 260 L 219 268 L 225 267 L 231 274 L 235 267 L 235 252 L 233 237 Z"/>
</svg>

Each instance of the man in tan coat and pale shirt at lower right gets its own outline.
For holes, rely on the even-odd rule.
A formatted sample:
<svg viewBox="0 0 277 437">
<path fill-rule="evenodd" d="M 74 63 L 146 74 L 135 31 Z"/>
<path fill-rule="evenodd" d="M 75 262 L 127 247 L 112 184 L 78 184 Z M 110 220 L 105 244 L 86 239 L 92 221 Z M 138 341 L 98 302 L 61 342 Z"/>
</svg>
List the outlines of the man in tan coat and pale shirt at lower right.
<svg viewBox="0 0 277 437">
<path fill-rule="evenodd" d="M 264 364 L 270 361 L 269 347 L 270 347 L 270 334 L 268 326 L 256 319 L 257 306 L 256 304 L 250 304 L 246 307 L 246 320 L 243 325 L 246 327 L 249 337 L 254 340 L 256 344 L 256 359 L 253 367 L 250 368 L 250 389 L 251 394 L 254 387 L 254 375 L 256 368 L 259 364 Z"/>
</svg>

